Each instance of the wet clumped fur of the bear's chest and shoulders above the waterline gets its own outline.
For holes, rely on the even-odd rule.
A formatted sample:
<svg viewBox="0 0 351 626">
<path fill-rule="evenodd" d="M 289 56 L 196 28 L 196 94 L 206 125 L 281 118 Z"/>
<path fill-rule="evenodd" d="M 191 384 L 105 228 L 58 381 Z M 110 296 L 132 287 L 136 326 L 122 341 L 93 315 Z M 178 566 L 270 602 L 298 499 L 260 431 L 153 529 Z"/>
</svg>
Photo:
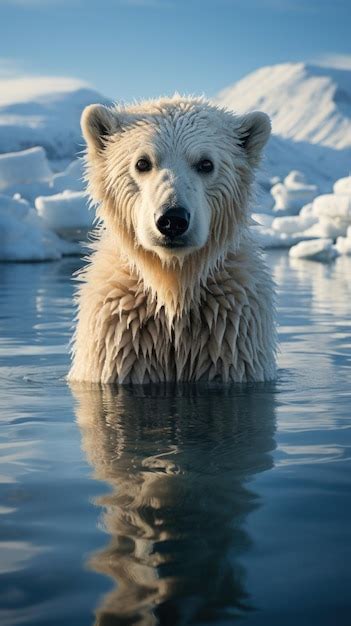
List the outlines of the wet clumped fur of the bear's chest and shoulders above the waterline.
<svg viewBox="0 0 351 626">
<path fill-rule="evenodd" d="M 90 276 L 80 292 L 70 378 L 124 384 L 267 379 L 274 362 L 270 302 L 268 308 L 260 302 L 264 281 L 238 269 L 218 270 L 171 317 L 132 275 Z"/>
</svg>

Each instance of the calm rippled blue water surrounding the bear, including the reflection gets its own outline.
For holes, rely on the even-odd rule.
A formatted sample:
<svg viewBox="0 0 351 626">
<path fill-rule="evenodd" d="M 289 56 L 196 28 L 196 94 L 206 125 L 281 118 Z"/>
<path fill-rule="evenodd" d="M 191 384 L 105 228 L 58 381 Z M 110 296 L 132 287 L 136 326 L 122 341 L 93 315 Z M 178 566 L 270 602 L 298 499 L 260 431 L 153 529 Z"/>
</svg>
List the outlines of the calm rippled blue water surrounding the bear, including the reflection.
<svg viewBox="0 0 351 626">
<path fill-rule="evenodd" d="M 271 253 L 275 384 L 64 380 L 76 261 L 0 265 L 0 624 L 350 623 L 351 259 Z"/>
</svg>

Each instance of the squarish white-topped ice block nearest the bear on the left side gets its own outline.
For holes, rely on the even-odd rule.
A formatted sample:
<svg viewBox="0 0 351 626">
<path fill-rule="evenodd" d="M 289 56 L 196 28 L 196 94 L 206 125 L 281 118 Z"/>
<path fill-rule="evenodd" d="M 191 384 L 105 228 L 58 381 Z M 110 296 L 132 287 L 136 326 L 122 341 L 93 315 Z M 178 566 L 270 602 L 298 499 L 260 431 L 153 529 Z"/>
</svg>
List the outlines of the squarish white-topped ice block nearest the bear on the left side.
<svg viewBox="0 0 351 626">
<path fill-rule="evenodd" d="M 91 228 L 94 213 L 89 211 L 88 199 L 80 191 L 64 191 L 52 196 L 40 196 L 35 201 L 38 214 L 57 233 Z"/>
</svg>

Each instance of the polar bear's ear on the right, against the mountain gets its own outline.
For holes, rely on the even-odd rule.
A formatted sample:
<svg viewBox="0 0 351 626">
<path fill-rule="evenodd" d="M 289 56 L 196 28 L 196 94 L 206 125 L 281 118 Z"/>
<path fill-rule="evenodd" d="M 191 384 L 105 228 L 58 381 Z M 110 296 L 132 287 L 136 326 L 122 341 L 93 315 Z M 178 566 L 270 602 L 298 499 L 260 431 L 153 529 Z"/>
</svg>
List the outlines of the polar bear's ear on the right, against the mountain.
<svg viewBox="0 0 351 626">
<path fill-rule="evenodd" d="M 266 113 L 254 111 L 241 118 L 240 144 L 246 150 L 251 165 L 258 165 L 263 147 L 271 134 L 271 121 Z"/>
</svg>

